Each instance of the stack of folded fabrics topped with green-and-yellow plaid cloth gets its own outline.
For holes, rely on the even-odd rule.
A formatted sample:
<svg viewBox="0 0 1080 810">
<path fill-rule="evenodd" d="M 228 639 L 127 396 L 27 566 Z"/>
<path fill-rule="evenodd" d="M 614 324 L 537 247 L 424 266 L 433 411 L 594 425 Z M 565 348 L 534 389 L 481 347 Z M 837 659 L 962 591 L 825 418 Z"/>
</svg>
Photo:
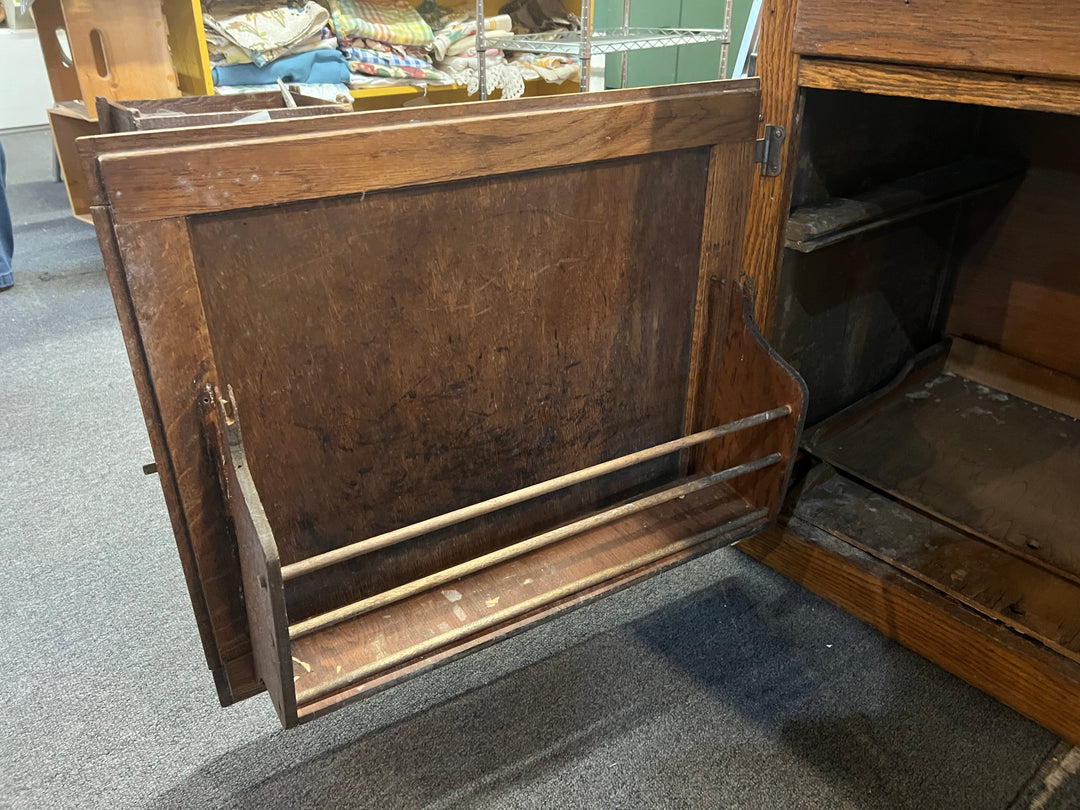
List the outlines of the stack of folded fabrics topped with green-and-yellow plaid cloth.
<svg viewBox="0 0 1080 810">
<path fill-rule="evenodd" d="M 405 0 L 330 0 L 350 86 L 384 83 L 451 84 L 431 62 L 431 26 Z"/>
</svg>

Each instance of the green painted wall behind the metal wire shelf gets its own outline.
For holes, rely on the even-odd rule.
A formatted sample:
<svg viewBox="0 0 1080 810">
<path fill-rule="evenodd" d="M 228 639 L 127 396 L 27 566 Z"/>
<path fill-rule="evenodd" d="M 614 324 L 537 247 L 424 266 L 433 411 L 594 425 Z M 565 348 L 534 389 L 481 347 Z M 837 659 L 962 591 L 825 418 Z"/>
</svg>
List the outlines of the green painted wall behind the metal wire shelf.
<svg viewBox="0 0 1080 810">
<path fill-rule="evenodd" d="M 567 3 L 572 4 L 572 0 Z M 728 51 L 728 73 L 734 69 L 735 56 L 751 0 L 734 0 L 731 12 L 731 45 Z M 643 28 L 721 28 L 723 0 L 631 0 L 630 24 Z M 596 0 L 596 28 L 622 25 L 622 0 Z M 609 87 L 619 86 L 620 57 L 608 56 L 605 80 Z M 708 81 L 718 78 L 720 45 L 685 45 L 638 51 L 630 54 L 627 86 L 646 87 L 654 84 Z"/>
</svg>

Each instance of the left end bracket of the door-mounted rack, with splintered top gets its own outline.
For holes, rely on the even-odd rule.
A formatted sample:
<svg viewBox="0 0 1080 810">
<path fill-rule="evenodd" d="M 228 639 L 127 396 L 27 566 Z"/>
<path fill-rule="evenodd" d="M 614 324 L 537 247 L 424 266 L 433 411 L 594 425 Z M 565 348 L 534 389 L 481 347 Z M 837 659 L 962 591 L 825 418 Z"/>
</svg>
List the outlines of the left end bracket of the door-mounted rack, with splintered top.
<svg viewBox="0 0 1080 810">
<path fill-rule="evenodd" d="M 232 518 L 255 673 L 270 693 L 281 725 L 292 728 L 297 724 L 296 690 L 278 545 L 252 481 L 231 392 L 207 384 L 203 414 L 205 437 Z"/>
</svg>

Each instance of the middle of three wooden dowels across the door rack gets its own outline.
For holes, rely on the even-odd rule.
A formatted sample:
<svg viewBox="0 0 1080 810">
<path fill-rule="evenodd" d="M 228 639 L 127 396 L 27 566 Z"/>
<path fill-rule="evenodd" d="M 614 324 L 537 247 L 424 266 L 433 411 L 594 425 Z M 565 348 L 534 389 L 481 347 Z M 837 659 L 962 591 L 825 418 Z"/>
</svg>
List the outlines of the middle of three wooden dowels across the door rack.
<svg viewBox="0 0 1080 810">
<path fill-rule="evenodd" d="M 373 610 L 384 608 L 395 602 L 407 599 L 409 596 L 416 596 L 419 593 L 430 591 L 433 588 L 438 588 L 440 585 L 461 579 L 462 577 L 468 577 L 470 573 L 476 573 L 485 568 L 491 568 L 500 563 L 505 563 L 514 557 L 519 557 L 523 554 L 538 551 L 548 545 L 557 543 L 561 540 L 565 540 L 568 537 L 580 535 L 582 531 L 588 531 L 589 529 L 617 521 L 620 517 L 626 517 L 627 515 L 632 515 L 637 512 L 644 512 L 652 507 L 659 507 L 661 503 L 667 503 L 669 501 L 673 501 L 677 498 L 692 495 L 693 492 L 714 486 L 720 482 L 729 481 L 739 475 L 756 472 L 767 467 L 772 467 L 773 464 L 779 463 L 780 460 L 781 455 L 779 453 L 773 453 L 772 455 L 757 459 L 756 461 L 748 461 L 745 464 L 739 464 L 738 467 L 732 467 L 728 470 L 721 470 L 720 472 L 713 473 L 712 475 L 706 475 L 702 478 L 697 478 L 696 481 L 672 487 L 671 489 L 665 489 L 662 492 L 656 492 L 636 501 L 623 503 L 622 505 L 613 507 L 603 512 L 597 512 L 594 515 L 590 515 L 589 517 L 576 521 L 575 523 L 566 526 L 559 526 L 551 531 L 544 531 L 542 535 L 537 535 L 528 538 L 527 540 L 514 543 L 513 545 L 508 545 L 505 549 L 499 549 L 498 551 L 494 551 L 489 554 L 484 554 L 483 556 L 475 557 L 474 559 L 469 559 L 460 565 L 451 566 L 450 568 L 446 568 L 442 571 L 436 571 L 428 577 L 422 577 L 421 579 L 406 582 L 397 588 L 392 588 L 389 591 L 383 591 L 382 593 L 375 594 L 374 596 L 368 596 L 366 599 L 354 602 L 351 605 L 346 605 L 337 610 L 330 610 L 329 612 L 320 613 L 311 619 L 297 622 L 296 624 L 289 626 L 288 637 L 289 639 L 295 640 L 306 635 L 310 635 L 311 633 L 318 633 L 320 630 L 338 624 L 339 622 L 354 619 L 357 616 L 363 616 L 364 613 L 368 613 Z"/>
</svg>

